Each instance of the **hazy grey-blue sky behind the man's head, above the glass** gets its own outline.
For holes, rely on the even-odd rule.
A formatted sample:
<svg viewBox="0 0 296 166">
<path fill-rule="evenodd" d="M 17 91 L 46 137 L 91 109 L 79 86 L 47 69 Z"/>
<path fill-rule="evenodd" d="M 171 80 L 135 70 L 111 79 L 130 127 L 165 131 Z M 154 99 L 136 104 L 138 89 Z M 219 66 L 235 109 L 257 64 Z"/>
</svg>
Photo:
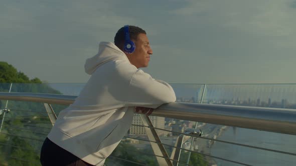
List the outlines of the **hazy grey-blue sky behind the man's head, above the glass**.
<svg viewBox="0 0 296 166">
<path fill-rule="evenodd" d="M 147 32 L 142 68 L 169 83 L 296 83 L 296 0 L 1 0 L 0 61 L 84 83 L 86 58 L 125 24 Z"/>
</svg>

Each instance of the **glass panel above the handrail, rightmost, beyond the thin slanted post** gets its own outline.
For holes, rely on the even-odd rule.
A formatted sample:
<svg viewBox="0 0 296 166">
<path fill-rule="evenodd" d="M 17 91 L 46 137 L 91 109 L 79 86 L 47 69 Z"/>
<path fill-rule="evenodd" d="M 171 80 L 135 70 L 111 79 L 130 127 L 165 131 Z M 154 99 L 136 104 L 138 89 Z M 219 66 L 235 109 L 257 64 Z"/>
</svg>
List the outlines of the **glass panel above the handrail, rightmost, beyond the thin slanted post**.
<svg viewBox="0 0 296 166">
<path fill-rule="evenodd" d="M 296 84 L 209 84 L 204 103 L 296 108 Z"/>
</svg>

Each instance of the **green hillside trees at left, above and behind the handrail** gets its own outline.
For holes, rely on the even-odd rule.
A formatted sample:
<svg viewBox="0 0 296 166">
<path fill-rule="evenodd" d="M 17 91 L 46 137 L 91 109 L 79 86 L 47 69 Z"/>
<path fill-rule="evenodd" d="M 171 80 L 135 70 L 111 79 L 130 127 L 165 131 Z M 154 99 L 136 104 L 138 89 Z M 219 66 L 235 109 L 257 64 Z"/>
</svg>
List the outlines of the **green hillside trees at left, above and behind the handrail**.
<svg viewBox="0 0 296 166">
<path fill-rule="evenodd" d="M 39 78 L 30 80 L 24 72 L 18 71 L 13 65 L 0 61 L 0 91 L 8 91 L 10 83 L 13 83 L 14 92 L 61 94 L 58 90 L 42 83 Z M 0 100 L 0 108 L 5 103 L 6 101 Z M 65 108 L 64 105 L 53 105 L 53 107 L 55 110 Z M 36 140 L 44 140 L 47 135 L 42 127 L 51 127 L 43 103 L 9 101 L 8 108 L 11 111 L 5 116 L 0 133 L 0 165 L 40 165 L 39 153 L 42 141 Z"/>
</svg>

